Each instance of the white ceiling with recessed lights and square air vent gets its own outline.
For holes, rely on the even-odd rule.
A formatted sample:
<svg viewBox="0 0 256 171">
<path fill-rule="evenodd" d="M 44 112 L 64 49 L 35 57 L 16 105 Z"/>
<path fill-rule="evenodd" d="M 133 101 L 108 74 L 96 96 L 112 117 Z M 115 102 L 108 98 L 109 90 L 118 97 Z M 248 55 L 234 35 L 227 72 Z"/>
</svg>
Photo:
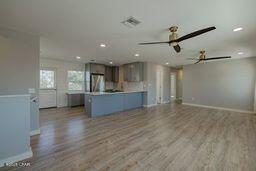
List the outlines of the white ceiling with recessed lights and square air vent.
<svg viewBox="0 0 256 171">
<path fill-rule="evenodd" d="M 256 56 L 255 7 L 255 0 L 1 0 L 0 26 L 40 35 L 42 57 L 178 66 L 191 63 L 186 58 L 196 57 L 201 49 L 209 57 Z M 130 16 L 141 24 L 122 25 Z M 168 45 L 138 45 L 168 40 L 167 29 L 173 25 L 180 36 L 209 26 L 217 29 L 182 42 L 180 54 Z M 244 29 L 233 32 L 236 27 Z"/>
</svg>

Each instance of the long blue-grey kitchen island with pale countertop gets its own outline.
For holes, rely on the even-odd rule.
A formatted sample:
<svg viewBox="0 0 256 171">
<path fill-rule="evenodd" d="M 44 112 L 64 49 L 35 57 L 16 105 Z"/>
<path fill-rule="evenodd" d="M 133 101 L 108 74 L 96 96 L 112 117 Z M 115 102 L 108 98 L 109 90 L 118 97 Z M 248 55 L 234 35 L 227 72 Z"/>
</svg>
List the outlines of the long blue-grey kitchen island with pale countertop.
<svg viewBox="0 0 256 171">
<path fill-rule="evenodd" d="M 145 91 L 88 92 L 85 93 L 85 111 L 90 117 L 141 108 Z"/>
</svg>

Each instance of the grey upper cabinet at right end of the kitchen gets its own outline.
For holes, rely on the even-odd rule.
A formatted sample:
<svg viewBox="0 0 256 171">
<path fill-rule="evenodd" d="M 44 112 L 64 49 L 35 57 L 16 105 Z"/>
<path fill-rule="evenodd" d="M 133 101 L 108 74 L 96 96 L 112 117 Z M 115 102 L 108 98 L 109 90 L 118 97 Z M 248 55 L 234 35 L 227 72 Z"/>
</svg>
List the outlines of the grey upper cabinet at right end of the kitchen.
<svg viewBox="0 0 256 171">
<path fill-rule="evenodd" d="M 128 82 L 143 81 L 143 63 L 142 62 L 125 64 L 123 67 L 124 67 L 124 81 L 128 81 Z"/>
</svg>

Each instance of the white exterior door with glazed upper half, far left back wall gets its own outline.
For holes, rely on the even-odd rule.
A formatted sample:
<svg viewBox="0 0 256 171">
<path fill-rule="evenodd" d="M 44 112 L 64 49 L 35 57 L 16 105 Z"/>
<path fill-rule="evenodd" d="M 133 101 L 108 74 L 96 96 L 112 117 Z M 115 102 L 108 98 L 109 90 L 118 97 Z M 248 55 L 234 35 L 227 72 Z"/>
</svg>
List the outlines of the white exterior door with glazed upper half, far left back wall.
<svg viewBox="0 0 256 171">
<path fill-rule="evenodd" d="M 40 70 L 39 108 L 57 107 L 56 70 Z"/>
</svg>

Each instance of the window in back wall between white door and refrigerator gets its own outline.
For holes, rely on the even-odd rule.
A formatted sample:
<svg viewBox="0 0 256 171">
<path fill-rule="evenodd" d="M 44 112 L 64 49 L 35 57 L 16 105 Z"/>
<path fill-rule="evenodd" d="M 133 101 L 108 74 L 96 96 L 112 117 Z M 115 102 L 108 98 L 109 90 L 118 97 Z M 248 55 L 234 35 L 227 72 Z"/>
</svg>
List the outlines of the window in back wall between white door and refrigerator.
<svg viewBox="0 0 256 171">
<path fill-rule="evenodd" d="M 68 90 L 84 89 L 84 72 L 68 71 Z"/>
</svg>

